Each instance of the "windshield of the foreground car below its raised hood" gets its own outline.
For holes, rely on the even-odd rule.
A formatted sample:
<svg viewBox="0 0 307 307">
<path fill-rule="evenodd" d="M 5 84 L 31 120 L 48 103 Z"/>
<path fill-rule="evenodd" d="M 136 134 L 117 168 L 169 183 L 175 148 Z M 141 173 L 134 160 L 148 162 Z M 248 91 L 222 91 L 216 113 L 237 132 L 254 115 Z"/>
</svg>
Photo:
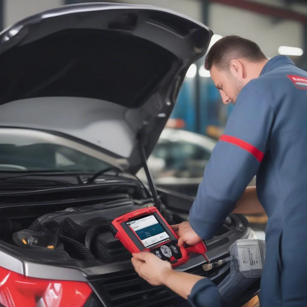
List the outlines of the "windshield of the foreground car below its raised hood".
<svg viewBox="0 0 307 307">
<path fill-rule="evenodd" d="M 40 132 L 27 135 L 24 131 L 20 130 L 20 134 L 1 134 L 0 171 L 94 173 L 112 166 L 72 147 L 44 139 Z"/>
</svg>

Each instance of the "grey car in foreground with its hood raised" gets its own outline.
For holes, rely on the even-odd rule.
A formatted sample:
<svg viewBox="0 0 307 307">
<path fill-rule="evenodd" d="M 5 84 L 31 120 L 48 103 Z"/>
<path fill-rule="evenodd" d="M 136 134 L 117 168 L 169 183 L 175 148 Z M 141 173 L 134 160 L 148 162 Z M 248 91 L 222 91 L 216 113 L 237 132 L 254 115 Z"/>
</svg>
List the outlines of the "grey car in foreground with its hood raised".
<svg viewBox="0 0 307 307">
<path fill-rule="evenodd" d="M 134 271 L 110 222 L 156 206 L 186 221 L 193 198 L 135 177 L 153 150 L 191 63 L 212 31 L 171 10 L 84 3 L 27 17 L 0 34 L 0 304 L 188 306 Z M 229 215 L 205 243 L 214 261 L 255 238 Z M 219 284 L 229 262 L 204 272 Z M 259 280 L 236 297 L 254 299 Z"/>
</svg>

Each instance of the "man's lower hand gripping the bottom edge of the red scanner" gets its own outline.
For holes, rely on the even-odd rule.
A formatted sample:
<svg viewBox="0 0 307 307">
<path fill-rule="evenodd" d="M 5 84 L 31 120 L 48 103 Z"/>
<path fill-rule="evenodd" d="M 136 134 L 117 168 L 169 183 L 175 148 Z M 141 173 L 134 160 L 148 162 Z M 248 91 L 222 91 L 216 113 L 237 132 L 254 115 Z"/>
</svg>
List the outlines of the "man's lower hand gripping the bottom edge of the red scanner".
<svg viewBox="0 0 307 307">
<path fill-rule="evenodd" d="M 163 284 L 166 275 L 172 271 L 172 265 L 149 252 L 132 254 L 131 262 L 135 271 L 153 286 Z"/>
</svg>

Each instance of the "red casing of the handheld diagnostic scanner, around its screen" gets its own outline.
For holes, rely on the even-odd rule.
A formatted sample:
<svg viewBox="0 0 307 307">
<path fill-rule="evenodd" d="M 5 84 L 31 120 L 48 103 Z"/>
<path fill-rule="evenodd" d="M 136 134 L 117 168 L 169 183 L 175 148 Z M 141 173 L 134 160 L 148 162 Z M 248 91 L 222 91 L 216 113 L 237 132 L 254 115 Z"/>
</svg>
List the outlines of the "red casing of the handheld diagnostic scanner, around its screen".
<svg viewBox="0 0 307 307">
<path fill-rule="evenodd" d="M 157 243 L 154 246 L 152 247 L 150 246 L 148 248 L 144 246 L 142 240 L 138 237 L 138 235 L 134 232 L 134 230 L 126 224 L 126 222 L 128 221 L 137 220 L 147 215 L 153 215 L 157 219 L 158 223 L 160 223 L 162 228 L 164 228 L 165 232 L 169 235 L 169 239 L 164 240 L 163 242 Z M 122 216 L 119 216 L 118 218 L 114 219 L 111 222 L 110 229 L 114 237 L 116 239 L 119 239 L 121 243 L 124 245 L 124 247 L 126 247 L 126 249 L 130 251 L 131 254 L 139 253 L 141 251 L 150 252 L 153 250 L 157 250 L 162 245 L 167 245 L 168 243 L 171 242 L 173 244 L 177 244 L 179 239 L 177 233 L 165 221 L 165 219 L 163 218 L 163 216 L 156 207 L 142 208 L 139 210 L 128 212 Z M 190 259 L 190 253 L 202 254 L 206 258 L 206 260 L 210 262 L 207 256 L 205 255 L 207 248 L 202 241 L 193 246 L 185 246 L 185 247 L 181 246 L 178 248 L 180 248 L 180 253 L 182 257 L 179 259 L 178 258 L 175 259 L 174 256 L 172 256 L 169 259 L 169 262 L 172 264 L 173 268 L 187 262 Z"/>
</svg>

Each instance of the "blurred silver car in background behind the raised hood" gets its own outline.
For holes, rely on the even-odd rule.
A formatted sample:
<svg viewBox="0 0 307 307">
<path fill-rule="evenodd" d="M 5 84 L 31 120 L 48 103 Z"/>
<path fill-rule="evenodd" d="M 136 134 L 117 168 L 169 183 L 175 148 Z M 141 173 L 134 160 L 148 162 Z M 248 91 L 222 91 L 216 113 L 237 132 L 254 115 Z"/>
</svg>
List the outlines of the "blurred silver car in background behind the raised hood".
<svg viewBox="0 0 307 307">
<path fill-rule="evenodd" d="M 165 128 L 148 158 L 155 184 L 195 197 L 216 143 L 216 140 L 202 134 Z M 146 181 L 144 169 L 137 175 Z M 249 186 L 255 185 L 256 177 Z"/>
</svg>

